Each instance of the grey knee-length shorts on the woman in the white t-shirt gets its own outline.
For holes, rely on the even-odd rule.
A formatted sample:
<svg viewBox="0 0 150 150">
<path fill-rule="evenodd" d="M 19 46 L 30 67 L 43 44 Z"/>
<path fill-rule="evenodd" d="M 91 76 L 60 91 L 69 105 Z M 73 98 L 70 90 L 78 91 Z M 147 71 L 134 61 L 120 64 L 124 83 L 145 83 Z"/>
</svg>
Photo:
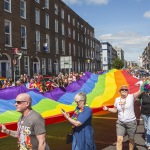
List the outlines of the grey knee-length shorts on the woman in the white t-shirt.
<svg viewBox="0 0 150 150">
<path fill-rule="evenodd" d="M 121 122 L 117 120 L 116 122 L 117 136 L 124 136 L 125 133 L 127 133 L 130 139 L 134 139 L 136 129 L 137 129 L 136 120 L 130 122 Z"/>
</svg>

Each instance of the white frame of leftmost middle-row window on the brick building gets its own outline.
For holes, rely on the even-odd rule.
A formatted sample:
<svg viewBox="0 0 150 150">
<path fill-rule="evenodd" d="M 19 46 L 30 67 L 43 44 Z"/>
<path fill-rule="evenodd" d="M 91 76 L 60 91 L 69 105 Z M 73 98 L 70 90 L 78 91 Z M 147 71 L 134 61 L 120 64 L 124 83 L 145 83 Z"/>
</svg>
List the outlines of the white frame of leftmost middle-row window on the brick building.
<svg viewBox="0 0 150 150">
<path fill-rule="evenodd" d="M 6 29 L 6 24 L 8 24 L 9 32 L 5 32 L 5 45 L 6 46 L 12 46 L 12 26 L 11 21 L 4 20 L 4 29 Z M 6 37 L 9 39 L 9 43 L 6 43 Z"/>
</svg>

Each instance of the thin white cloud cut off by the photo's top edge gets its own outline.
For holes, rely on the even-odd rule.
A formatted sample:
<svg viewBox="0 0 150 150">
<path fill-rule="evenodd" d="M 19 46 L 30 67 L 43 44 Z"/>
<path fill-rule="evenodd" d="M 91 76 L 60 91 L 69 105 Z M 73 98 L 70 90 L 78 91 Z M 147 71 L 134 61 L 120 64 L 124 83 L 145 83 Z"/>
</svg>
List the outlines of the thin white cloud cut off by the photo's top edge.
<svg viewBox="0 0 150 150">
<path fill-rule="evenodd" d="M 63 0 L 66 4 L 107 4 L 109 0 Z"/>
</svg>

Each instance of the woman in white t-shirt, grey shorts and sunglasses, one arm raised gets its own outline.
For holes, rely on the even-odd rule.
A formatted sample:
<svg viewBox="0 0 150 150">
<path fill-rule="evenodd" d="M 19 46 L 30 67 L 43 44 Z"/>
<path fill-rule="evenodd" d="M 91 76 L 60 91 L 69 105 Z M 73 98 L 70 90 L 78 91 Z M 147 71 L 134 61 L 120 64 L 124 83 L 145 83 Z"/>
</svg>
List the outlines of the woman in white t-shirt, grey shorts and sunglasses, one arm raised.
<svg viewBox="0 0 150 150">
<path fill-rule="evenodd" d="M 134 149 L 134 135 L 137 129 L 137 121 L 134 113 L 134 100 L 142 93 L 138 91 L 134 94 L 129 94 L 127 85 L 122 85 L 120 90 L 120 97 L 117 97 L 113 108 L 103 107 L 112 113 L 118 112 L 118 120 L 116 122 L 117 144 L 116 149 L 122 150 L 123 136 L 125 133 L 129 137 L 129 150 Z"/>
</svg>

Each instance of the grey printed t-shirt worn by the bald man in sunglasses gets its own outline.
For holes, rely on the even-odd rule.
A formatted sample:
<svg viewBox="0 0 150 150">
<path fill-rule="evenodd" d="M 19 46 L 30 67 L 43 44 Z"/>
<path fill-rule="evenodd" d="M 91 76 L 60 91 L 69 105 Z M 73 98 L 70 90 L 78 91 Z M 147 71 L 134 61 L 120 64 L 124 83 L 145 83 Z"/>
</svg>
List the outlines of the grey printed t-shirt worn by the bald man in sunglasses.
<svg viewBox="0 0 150 150">
<path fill-rule="evenodd" d="M 18 140 L 20 150 L 38 150 L 36 135 L 45 133 L 45 120 L 36 111 L 31 110 L 27 116 L 18 121 Z"/>
</svg>

